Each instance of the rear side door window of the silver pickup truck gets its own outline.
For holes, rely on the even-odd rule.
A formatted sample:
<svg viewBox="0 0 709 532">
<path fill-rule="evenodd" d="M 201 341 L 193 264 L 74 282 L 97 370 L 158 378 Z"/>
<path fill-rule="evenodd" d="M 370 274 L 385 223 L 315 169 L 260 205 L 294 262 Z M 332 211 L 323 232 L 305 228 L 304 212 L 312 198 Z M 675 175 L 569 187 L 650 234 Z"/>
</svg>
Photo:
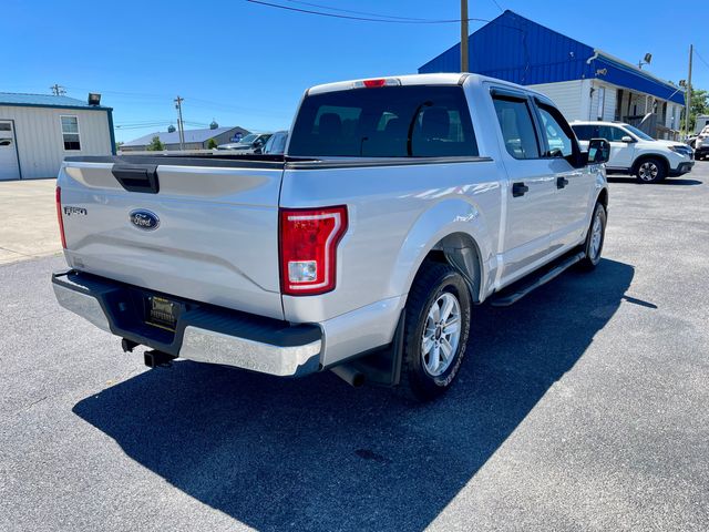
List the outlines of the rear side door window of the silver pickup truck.
<svg viewBox="0 0 709 532">
<path fill-rule="evenodd" d="M 514 158 L 538 158 L 540 143 L 528 101 L 494 95 L 493 102 L 507 153 Z"/>
</svg>

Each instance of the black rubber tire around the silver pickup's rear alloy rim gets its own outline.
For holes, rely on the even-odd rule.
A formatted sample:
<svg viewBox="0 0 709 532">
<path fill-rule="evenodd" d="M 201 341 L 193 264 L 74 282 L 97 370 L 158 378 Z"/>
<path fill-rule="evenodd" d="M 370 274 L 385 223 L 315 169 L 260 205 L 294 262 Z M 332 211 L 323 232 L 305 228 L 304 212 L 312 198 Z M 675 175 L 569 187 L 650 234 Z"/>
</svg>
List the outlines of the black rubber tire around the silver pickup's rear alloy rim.
<svg viewBox="0 0 709 532">
<path fill-rule="evenodd" d="M 441 347 L 439 349 L 441 369 L 448 364 L 440 375 L 432 375 L 428 369 L 429 364 L 434 364 L 424 355 L 424 332 L 429 321 L 429 313 L 433 305 L 443 300 L 450 300 L 452 295 L 459 304 L 460 337 L 452 355 L 444 357 L 443 342 L 448 341 L 442 326 L 435 327 L 434 335 L 430 335 L 433 341 Z M 440 305 L 436 305 L 441 308 Z M 409 299 L 407 301 L 403 357 L 401 366 L 401 381 L 397 391 L 417 401 L 430 401 L 444 393 L 455 380 L 458 371 L 465 356 L 467 336 L 470 334 L 471 296 L 463 277 L 448 264 L 427 262 L 421 267 L 413 282 Z M 451 313 L 451 316 L 454 313 Z M 440 314 L 439 314 L 440 315 Z M 440 330 L 439 330 L 440 329 Z M 430 328 L 428 330 L 431 330 Z M 449 348 L 450 342 L 448 344 Z M 432 348 L 434 349 L 434 348 Z M 427 357 L 429 359 L 427 360 Z"/>
</svg>

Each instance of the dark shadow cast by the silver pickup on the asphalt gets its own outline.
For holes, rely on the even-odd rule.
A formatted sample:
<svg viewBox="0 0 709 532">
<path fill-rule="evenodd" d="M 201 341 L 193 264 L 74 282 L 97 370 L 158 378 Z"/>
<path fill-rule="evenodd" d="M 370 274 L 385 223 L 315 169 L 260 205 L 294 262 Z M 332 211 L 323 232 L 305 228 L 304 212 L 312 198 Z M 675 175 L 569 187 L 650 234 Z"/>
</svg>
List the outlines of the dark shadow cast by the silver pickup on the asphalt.
<svg viewBox="0 0 709 532">
<path fill-rule="evenodd" d="M 178 361 L 73 411 L 257 530 L 422 530 L 584 355 L 633 276 L 603 260 L 513 307 L 477 308 L 460 381 L 431 405 L 331 374 L 282 380 Z"/>
</svg>

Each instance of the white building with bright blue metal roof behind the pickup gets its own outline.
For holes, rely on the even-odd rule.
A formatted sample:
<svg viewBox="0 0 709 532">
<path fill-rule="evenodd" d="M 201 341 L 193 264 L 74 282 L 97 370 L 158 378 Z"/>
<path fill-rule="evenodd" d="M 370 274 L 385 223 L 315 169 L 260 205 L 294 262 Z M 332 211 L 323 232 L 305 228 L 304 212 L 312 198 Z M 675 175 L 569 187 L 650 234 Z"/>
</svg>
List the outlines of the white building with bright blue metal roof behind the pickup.
<svg viewBox="0 0 709 532">
<path fill-rule="evenodd" d="M 458 72 L 460 43 L 419 68 Z M 567 120 L 621 121 L 676 139 L 685 92 L 627 61 L 505 11 L 469 40 L 470 71 L 548 95 Z"/>
</svg>

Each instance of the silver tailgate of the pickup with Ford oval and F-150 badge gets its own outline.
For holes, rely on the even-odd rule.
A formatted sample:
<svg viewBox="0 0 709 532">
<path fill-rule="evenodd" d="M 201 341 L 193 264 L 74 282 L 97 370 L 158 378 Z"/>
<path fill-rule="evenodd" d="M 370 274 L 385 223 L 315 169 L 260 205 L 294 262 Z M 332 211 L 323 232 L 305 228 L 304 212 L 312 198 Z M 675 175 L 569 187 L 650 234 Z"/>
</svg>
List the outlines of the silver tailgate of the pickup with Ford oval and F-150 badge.
<svg viewBox="0 0 709 532">
<path fill-rule="evenodd" d="M 131 165 L 156 171 L 157 193 L 130 185 L 133 190 L 126 190 L 113 172 L 122 167 L 119 163 L 115 168 L 114 162 L 64 163 L 58 185 L 69 265 L 150 290 L 282 319 L 282 163 L 164 163 Z"/>
</svg>

